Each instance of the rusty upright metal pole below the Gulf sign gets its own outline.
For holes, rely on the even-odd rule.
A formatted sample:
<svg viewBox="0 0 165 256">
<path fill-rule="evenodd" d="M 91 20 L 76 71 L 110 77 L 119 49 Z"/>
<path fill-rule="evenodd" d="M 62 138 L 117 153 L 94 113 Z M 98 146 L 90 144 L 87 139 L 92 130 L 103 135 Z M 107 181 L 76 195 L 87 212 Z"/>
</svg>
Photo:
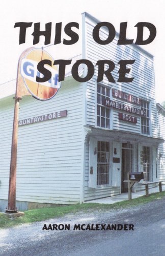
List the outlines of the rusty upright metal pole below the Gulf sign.
<svg viewBox="0 0 165 256">
<path fill-rule="evenodd" d="M 17 167 L 17 138 L 18 138 L 18 114 L 19 114 L 19 100 L 20 97 L 14 97 L 14 120 L 13 120 L 13 135 L 11 146 L 11 160 L 10 160 L 10 178 L 9 178 L 9 195 L 7 213 L 17 212 L 16 208 L 16 167 Z"/>
</svg>

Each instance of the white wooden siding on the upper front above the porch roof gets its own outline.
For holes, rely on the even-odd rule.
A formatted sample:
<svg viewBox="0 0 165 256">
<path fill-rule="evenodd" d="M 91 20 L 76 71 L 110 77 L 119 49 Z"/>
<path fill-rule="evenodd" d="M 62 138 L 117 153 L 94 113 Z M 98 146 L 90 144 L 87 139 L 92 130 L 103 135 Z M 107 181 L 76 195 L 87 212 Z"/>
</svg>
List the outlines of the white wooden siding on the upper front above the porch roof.
<svg viewBox="0 0 165 256">
<path fill-rule="evenodd" d="M 140 48 L 134 45 L 117 45 L 118 37 L 108 45 L 97 44 L 93 37 L 92 31 L 96 26 L 94 20 L 86 14 L 86 58 L 91 60 L 95 65 L 97 60 L 109 59 L 115 62 L 115 70 L 112 72 L 116 83 L 108 82 L 104 76 L 102 81 L 104 84 L 109 85 L 112 88 L 122 90 L 126 93 L 131 93 L 137 97 L 146 99 L 151 102 L 151 123 L 152 131 L 151 135 L 156 137 L 156 103 L 155 103 L 155 84 L 154 84 L 154 70 L 153 70 L 153 58 L 150 55 L 145 54 Z M 107 38 L 107 30 L 100 29 L 99 35 L 102 39 Z M 119 77 L 118 70 L 119 65 L 117 63 L 121 59 L 135 59 L 128 77 L 134 77 L 131 83 L 117 82 Z M 95 74 L 87 85 L 87 125 L 96 125 L 96 80 L 97 80 L 98 67 L 95 67 Z M 115 99 L 120 101 L 118 99 Z M 133 104 L 132 104 L 133 106 Z M 134 105 L 135 106 L 135 105 Z M 113 111 L 113 110 L 111 110 Z M 113 129 L 121 131 L 134 131 L 135 133 L 141 133 L 140 117 L 137 117 L 137 124 L 126 123 L 119 120 L 117 111 L 113 111 Z"/>
</svg>

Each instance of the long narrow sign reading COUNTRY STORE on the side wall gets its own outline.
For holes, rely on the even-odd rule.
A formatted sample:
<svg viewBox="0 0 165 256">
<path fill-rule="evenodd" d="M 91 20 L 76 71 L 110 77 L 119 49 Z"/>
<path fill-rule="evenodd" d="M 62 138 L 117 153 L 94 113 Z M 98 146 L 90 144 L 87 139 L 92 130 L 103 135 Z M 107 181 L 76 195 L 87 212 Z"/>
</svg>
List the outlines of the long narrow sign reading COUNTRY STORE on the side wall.
<svg viewBox="0 0 165 256">
<path fill-rule="evenodd" d="M 36 117 L 28 118 L 28 119 L 19 120 L 18 125 L 23 126 L 23 125 L 32 124 L 32 123 L 39 123 L 39 122 L 43 122 L 43 121 L 47 121 L 47 120 L 51 120 L 51 119 L 65 117 L 65 116 L 67 116 L 67 110 L 53 112 L 53 113 L 42 115 L 42 116 L 36 116 Z"/>
</svg>

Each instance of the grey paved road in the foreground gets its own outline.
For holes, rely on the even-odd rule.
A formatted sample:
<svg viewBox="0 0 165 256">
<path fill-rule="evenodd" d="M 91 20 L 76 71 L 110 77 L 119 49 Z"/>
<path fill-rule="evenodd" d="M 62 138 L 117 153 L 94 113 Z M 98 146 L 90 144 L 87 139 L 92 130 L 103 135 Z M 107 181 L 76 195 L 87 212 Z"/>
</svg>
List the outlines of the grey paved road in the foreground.
<svg viewBox="0 0 165 256">
<path fill-rule="evenodd" d="M 4 229 L 0 230 L 0 255 L 165 255 L 164 215 L 165 199 L 159 199 L 124 210 L 67 215 Z M 73 230 L 79 223 L 106 224 L 104 227 L 127 223 L 134 225 L 134 231 Z M 44 224 L 70 224 L 70 230 L 42 230 Z"/>
</svg>

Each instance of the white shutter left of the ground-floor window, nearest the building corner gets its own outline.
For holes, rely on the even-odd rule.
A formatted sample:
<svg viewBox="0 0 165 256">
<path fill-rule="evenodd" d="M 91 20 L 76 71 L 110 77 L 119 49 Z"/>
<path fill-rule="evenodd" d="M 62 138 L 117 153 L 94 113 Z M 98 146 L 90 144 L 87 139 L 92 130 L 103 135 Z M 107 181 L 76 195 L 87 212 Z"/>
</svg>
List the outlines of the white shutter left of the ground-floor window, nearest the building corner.
<svg viewBox="0 0 165 256">
<path fill-rule="evenodd" d="M 89 187 L 97 187 L 97 139 L 90 137 Z"/>
</svg>

